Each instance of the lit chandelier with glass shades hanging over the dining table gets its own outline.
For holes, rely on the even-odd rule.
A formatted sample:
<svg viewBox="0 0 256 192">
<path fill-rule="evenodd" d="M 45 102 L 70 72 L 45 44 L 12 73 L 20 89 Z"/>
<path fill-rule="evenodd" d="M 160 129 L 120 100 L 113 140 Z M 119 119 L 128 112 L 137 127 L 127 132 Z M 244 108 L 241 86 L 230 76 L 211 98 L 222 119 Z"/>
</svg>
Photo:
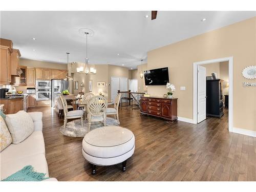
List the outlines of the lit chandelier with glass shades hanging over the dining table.
<svg viewBox="0 0 256 192">
<path fill-rule="evenodd" d="M 82 63 L 80 67 L 76 68 L 76 72 L 80 74 L 96 74 L 96 69 L 90 68 L 89 66 L 89 58 L 88 58 L 88 29 L 81 29 L 83 34 L 86 35 L 86 63 Z M 80 30 L 79 30 L 80 31 Z"/>
</svg>

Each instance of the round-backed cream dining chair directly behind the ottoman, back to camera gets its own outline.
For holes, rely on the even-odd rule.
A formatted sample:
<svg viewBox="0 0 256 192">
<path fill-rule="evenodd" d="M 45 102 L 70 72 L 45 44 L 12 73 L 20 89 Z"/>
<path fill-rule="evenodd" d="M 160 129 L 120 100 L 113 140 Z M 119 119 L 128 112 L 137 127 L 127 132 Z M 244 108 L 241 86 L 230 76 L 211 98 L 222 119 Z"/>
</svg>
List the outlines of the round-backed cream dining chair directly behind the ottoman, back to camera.
<svg viewBox="0 0 256 192">
<path fill-rule="evenodd" d="M 100 95 L 93 96 L 87 103 L 87 118 L 89 123 L 89 132 L 91 129 L 91 122 L 103 121 L 106 126 L 106 108 L 108 102 Z"/>
</svg>

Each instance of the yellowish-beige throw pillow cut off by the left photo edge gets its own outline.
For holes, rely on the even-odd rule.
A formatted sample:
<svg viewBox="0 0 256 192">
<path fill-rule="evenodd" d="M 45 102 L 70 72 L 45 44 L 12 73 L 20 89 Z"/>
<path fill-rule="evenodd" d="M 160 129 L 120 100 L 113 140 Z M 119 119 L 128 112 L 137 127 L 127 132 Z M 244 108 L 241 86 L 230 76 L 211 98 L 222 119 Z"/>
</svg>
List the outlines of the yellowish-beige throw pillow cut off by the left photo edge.
<svg viewBox="0 0 256 192">
<path fill-rule="evenodd" d="M 0 152 L 12 143 L 11 134 L 5 124 L 5 120 L 0 116 Z"/>
</svg>

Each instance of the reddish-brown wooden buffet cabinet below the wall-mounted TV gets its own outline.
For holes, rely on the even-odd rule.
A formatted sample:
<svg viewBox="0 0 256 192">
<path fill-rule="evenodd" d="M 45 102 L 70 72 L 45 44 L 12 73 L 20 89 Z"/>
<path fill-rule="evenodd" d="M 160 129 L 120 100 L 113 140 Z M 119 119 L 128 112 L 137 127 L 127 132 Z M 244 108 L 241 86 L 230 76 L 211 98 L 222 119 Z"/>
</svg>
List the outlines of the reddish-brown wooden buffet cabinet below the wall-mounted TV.
<svg viewBox="0 0 256 192">
<path fill-rule="evenodd" d="M 177 121 L 177 98 L 141 97 L 141 114 Z"/>
</svg>

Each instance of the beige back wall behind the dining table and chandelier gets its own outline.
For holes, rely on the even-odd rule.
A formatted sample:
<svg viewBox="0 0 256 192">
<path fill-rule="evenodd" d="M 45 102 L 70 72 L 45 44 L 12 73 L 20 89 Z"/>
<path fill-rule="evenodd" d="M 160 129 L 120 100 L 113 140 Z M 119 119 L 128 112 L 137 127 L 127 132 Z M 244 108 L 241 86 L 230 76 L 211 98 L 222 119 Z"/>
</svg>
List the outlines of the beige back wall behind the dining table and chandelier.
<svg viewBox="0 0 256 192">
<path fill-rule="evenodd" d="M 94 95 L 98 95 L 99 90 L 102 90 L 102 95 L 106 97 L 106 99 L 111 100 L 111 86 L 108 84 L 111 83 L 111 77 L 126 77 L 129 79 L 129 69 L 119 66 L 113 65 L 90 65 L 90 67 L 94 67 L 97 70 L 97 74 L 95 75 L 85 75 L 73 73 L 73 81 L 78 80 L 78 84 L 84 83 L 83 92 L 89 92 L 89 81 L 92 80 L 93 88 L 92 93 Z M 97 87 L 97 82 L 105 82 L 105 87 Z M 80 92 L 80 87 L 78 90 L 74 90 L 74 94 L 77 95 Z"/>
</svg>

